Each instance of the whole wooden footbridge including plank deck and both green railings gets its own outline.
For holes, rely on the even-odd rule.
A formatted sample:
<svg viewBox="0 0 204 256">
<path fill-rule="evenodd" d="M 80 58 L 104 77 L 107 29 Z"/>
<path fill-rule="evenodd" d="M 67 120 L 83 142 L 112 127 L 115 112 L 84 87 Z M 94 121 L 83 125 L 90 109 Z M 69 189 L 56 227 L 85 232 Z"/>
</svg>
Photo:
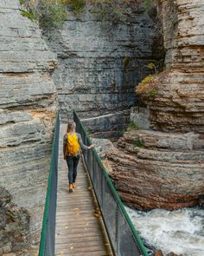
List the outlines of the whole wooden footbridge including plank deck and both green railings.
<svg viewBox="0 0 204 256">
<path fill-rule="evenodd" d="M 77 132 L 90 145 L 86 128 L 75 112 L 73 117 Z M 95 149 L 83 152 L 77 187 L 68 192 L 62 154 L 65 133 L 58 116 L 39 256 L 148 256 Z"/>
</svg>

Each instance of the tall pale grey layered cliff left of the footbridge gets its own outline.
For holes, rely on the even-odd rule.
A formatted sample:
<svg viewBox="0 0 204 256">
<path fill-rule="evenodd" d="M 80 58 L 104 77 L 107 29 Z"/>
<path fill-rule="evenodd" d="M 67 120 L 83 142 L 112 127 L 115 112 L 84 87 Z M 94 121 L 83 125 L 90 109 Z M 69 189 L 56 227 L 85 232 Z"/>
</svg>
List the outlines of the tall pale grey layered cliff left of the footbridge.
<svg viewBox="0 0 204 256">
<path fill-rule="evenodd" d="M 8 190 L 12 204 L 23 209 L 22 218 L 29 222 L 22 225 L 22 233 L 15 231 L 16 240 L 11 235 L 1 253 L 39 241 L 56 112 L 50 76 L 56 58 L 37 24 L 19 8 L 17 0 L 0 1 L 0 187 Z"/>
</svg>

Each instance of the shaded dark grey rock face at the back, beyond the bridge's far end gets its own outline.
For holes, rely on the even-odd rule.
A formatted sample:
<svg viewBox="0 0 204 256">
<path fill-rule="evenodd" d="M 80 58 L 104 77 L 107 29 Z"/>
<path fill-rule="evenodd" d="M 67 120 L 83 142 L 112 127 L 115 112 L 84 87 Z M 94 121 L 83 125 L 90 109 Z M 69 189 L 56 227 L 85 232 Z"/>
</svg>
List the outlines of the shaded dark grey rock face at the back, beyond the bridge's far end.
<svg viewBox="0 0 204 256">
<path fill-rule="evenodd" d="M 80 17 L 70 11 L 61 30 L 51 33 L 49 45 L 59 61 L 53 77 L 64 120 L 67 114 L 72 117 L 73 108 L 81 118 L 90 118 L 130 108 L 136 101 L 141 69 L 145 72 L 145 65 L 163 51 L 157 21 L 141 10 L 129 12 L 125 23 L 103 24 L 88 8 Z M 111 121 L 115 131 L 128 120 L 120 121 L 120 116 Z M 107 119 L 100 120 L 95 131 L 110 131 Z M 92 122 L 86 125 L 92 127 Z"/>
</svg>

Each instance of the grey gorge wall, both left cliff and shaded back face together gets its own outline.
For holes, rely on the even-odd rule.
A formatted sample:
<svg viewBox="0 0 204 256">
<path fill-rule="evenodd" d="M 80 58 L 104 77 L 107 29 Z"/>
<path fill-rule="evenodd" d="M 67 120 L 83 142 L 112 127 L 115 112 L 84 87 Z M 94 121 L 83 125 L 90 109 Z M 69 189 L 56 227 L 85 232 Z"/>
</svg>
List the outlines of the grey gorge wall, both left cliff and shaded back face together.
<svg viewBox="0 0 204 256">
<path fill-rule="evenodd" d="M 50 51 L 21 8 L 0 0 L 0 255 L 38 250 L 57 102 L 63 120 L 73 108 L 84 118 L 113 114 L 87 124 L 118 135 L 141 69 L 161 57 L 157 20 L 144 11 L 106 27 L 88 9 L 80 18 L 70 12 Z"/>
</svg>

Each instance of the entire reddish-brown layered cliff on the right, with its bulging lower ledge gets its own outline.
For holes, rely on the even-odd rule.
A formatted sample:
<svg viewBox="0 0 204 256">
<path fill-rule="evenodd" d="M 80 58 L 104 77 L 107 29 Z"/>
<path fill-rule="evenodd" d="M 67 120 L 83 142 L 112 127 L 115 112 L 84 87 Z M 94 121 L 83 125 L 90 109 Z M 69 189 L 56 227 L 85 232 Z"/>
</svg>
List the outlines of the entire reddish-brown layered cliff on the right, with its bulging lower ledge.
<svg viewBox="0 0 204 256">
<path fill-rule="evenodd" d="M 143 98 L 151 130 L 130 130 L 109 156 L 119 194 L 138 209 L 192 207 L 204 194 L 204 3 L 161 4 L 168 69 Z"/>
</svg>

